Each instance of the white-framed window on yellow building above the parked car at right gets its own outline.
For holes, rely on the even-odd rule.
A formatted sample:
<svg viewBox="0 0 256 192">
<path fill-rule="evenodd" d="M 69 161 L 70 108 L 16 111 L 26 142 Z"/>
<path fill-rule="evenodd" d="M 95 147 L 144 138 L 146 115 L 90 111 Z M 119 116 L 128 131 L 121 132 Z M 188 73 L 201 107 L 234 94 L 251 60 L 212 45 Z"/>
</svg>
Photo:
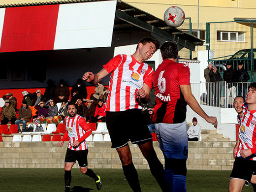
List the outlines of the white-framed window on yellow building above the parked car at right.
<svg viewBox="0 0 256 192">
<path fill-rule="evenodd" d="M 217 41 L 245 42 L 245 32 L 217 31 Z"/>
</svg>

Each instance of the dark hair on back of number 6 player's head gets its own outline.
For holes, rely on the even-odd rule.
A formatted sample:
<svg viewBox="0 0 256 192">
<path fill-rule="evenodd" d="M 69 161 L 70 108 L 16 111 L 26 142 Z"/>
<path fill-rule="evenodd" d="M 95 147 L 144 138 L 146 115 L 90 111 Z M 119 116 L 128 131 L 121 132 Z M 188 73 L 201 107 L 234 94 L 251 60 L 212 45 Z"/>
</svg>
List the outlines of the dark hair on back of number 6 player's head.
<svg viewBox="0 0 256 192">
<path fill-rule="evenodd" d="M 162 59 L 176 59 L 178 57 L 178 46 L 176 43 L 167 41 L 162 44 L 161 48 Z"/>
</svg>

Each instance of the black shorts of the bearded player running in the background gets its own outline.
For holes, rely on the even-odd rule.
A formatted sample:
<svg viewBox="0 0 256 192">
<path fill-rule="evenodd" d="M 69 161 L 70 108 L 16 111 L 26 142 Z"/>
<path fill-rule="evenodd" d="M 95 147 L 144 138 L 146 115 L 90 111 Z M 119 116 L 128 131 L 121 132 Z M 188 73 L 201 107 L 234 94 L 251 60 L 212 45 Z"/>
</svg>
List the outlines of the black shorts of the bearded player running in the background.
<svg viewBox="0 0 256 192">
<path fill-rule="evenodd" d="M 76 160 L 78 161 L 79 167 L 87 167 L 88 160 L 88 149 L 86 150 L 80 150 L 80 151 L 74 151 L 71 149 L 66 149 L 66 156 L 65 156 L 65 163 L 75 163 Z"/>
</svg>

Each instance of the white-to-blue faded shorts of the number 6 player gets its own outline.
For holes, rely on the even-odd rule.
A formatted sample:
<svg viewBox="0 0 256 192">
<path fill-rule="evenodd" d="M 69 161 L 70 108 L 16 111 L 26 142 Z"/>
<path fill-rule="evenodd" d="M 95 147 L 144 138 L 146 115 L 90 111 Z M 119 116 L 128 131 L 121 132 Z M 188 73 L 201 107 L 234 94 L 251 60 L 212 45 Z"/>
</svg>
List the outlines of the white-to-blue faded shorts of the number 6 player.
<svg viewBox="0 0 256 192">
<path fill-rule="evenodd" d="M 186 121 L 179 124 L 155 124 L 159 148 L 167 158 L 188 159 L 188 135 Z"/>
</svg>

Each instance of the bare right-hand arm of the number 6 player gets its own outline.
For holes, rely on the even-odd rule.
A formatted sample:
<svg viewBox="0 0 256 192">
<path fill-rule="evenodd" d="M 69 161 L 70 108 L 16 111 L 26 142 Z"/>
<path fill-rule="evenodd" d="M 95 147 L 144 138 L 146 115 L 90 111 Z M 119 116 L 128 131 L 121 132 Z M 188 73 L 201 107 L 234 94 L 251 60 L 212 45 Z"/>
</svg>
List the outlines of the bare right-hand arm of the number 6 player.
<svg viewBox="0 0 256 192">
<path fill-rule="evenodd" d="M 214 124 L 214 127 L 217 128 L 217 118 L 210 117 L 204 112 L 204 110 L 200 107 L 200 105 L 192 95 L 190 85 L 180 85 L 180 88 L 185 101 L 192 108 L 192 110 L 200 115 L 203 119 L 205 119 L 205 121 L 207 121 L 208 123 Z"/>
</svg>

